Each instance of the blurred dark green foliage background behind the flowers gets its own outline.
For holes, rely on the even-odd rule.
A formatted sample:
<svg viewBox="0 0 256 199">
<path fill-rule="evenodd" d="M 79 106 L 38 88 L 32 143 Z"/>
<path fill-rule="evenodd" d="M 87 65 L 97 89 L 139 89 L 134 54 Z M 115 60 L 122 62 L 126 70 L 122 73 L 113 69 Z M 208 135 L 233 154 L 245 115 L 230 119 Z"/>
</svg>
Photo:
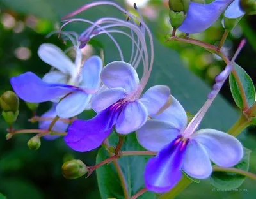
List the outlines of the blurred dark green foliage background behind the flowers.
<svg viewBox="0 0 256 199">
<path fill-rule="evenodd" d="M 172 31 L 168 22 L 168 8 L 160 0 L 118 0 L 132 13 L 132 3 L 138 3 L 141 12 L 145 15 L 148 26 L 155 39 L 155 64 L 148 86 L 154 84 L 169 85 L 172 94 L 191 114 L 204 103 L 207 92 L 214 77 L 225 67 L 223 61 L 203 48 L 184 43 L 164 43 L 164 36 Z M 46 35 L 60 26 L 60 18 L 79 6 L 92 1 L 89 0 L 0 0 L 0 94 L 10 86 L 10 77 L 25 71 L 33 71 L 42 77 L 50 66 L 41 61 L 37 49 L 42 43 L 54 43 L 66 49 L 69 43 L 56 35 L 46 38 Z M 143 4 L 145 3 L 145 4 Z M 93 8 L 79 15 L 82 18 L 95 20 L 102 16 L 125 18 L 119 11 L 101 6 Z M 256 80 L 256 17 L 244 17 L 234 28 L 225 43 L 225 51 L 232 55 L 241 38 L 248 43 L 239 55 L 237 63 L 248 72 L 253 81 Z M 86 24 L 74 23 L 67 30 L 81 33 Z M 218 44 L 223 34 L 221 22 L 207 29 L 204 33 L 194 34 L 193 38 Z M 177 34 L 180 34 L 179 32 Z M 125 57 L 131 54 L 131 42 L 122 36 L 116 35 L 124 50 Z M 106 36 L 92 40 L 94 50 L 84 52 L 84 55 L 103 52 L 104 61 L 108 63 L 118 59 L 115 46 Z M 72 56 L 72 55 L 71 55 Z M 221 90 L 221 96 L 216 99 L 213 107 L 205 117 L 203 127 L 216 128 L 227 131 L 238 118 L 238 110 L 234 105 L 228 83 Z M 51 107 L 50 103 L 42 103 L 38 108 L 38 115 Z M 79 117 L 88 118 L 91 112 L 84 112 Z M 15 124 L 16 129 L 37 128 L 28 119 L 32 116 L 24 101 L 20 101 L 20 114 Z M 95 173 L 88 179 L 81 177 L 76 180 L 65 179 L 61 175 L 61 165 L 67 159 L 81 159 L 86 165 L 95 164 L 97 151 L 79 153 L 67 147 L 63 139 L 45 141 L 38 151 L 30 151 L 27 142 L 31 135 L 17 135 L 6 141 L 6 124 L 0 121 L 0 193 L 8 199 L 40 199 L 40 198 L 100 198 Z M 252 149 L 250 172 L 256 173 L 256 135 L 255 128 L 239 136 L 245 147 Z M 250 179 L 244 181 L 241 189 L 247 191 L 212 191 L 209 181 L 192 184 L 177 198 L 255 198 L 255 182 Z M 1 196 L 0 196 L 1 198 Z M 118 198 L 120 199 L 120 198 Z M 149 198 L 150 199 L 150 198 Z"/>
</svg>

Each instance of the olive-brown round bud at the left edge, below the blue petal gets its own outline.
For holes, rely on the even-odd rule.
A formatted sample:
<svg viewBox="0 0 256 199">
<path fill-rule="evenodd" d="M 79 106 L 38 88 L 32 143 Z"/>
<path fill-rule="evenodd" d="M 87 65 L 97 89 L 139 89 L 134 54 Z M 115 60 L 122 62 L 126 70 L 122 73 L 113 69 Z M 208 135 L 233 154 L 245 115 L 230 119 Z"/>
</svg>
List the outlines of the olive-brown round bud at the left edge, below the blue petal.
<svg viewBox="0 0 256 199">
<path fill-rule="evenodd" d="M 19 110 L 19 98 L 12 91 L 6 91 L 0 98 L 1 108 L 4 112 L 17 112 Z"/>
</svg>

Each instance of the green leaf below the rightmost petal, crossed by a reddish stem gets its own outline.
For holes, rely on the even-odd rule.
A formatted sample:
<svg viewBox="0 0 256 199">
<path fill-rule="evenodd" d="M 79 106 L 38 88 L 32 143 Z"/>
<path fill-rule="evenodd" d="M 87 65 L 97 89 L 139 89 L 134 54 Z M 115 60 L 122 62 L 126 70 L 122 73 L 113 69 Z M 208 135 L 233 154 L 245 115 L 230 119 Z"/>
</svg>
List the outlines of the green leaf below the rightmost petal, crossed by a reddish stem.
<svg viewBox="0 0 256 199">
<path fill-rule="evenodd" d="M 248 171 L 251 152 L 250 149 L 244 148 L 244 157 L 234 168 Z M 213 172 L 210 177 L 211 184 L 221 190 L 237 189 L 243 184 L 244 179 L 244 175 L 228 172 Z"/>
</svg>

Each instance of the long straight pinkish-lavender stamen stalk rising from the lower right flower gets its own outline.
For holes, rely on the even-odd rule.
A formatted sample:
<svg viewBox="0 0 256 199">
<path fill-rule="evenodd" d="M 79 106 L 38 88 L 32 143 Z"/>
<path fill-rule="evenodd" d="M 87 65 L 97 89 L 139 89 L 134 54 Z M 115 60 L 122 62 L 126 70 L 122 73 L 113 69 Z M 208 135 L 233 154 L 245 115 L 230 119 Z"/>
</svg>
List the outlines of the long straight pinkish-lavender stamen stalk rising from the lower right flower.
<svg viewBox="0 0 256 199">
<path fill-rule="evenodd" d="M 200 108 L 200 110 L 195 115 L 195 117 L 193 117 L 191 122 L 189 122 L 187 128 L 182 133 L 184 138 L 189 138 L 189 136 L 196 131 L 196 128 L 198 128 L 198 126 L 199 126 L 200 122 L 202 121 L 204 115 L 206 114 L 207 110 L 209 109 L 209 107 L 211 107 L 211 104 L 214 101 L 214 99 L 216 98 L 218 92 L 220 92 L 220 89 L 223 86 L 223 84 L 225 83 L 225 80 L 227 80 L 230 73 L 234 69 L 234 66 L 232 64 L 236 60 L 237 55 L 239 54 L 239 52 L 241 52 L 241 49 L 244 47 L 245 43 L 246 43 L 245 40 L 241 41 L 239 47 L 237 48 L 236 54 L 234 55 L 234 57 L 232 58 L 230 63 L 228 63 L 225 70 L 223 70 L 220 73 L 220 75 L 218 75 L 215 78 L 216 84 L 214 84 L 213 90 L 208 95 L 207 101 L 205 102 L 204 106 L 202 108 Z"/>
</svg>

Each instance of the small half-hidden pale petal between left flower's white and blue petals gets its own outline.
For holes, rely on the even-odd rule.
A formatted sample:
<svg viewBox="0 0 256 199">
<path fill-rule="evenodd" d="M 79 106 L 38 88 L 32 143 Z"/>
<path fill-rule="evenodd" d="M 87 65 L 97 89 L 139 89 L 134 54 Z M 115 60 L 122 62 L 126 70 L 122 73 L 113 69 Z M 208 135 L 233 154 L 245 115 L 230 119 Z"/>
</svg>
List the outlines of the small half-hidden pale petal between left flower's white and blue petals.
<svg viewBox="0 0 256 199">
<path fill-rule="evenodd" d="M 51 71 L 46 73 L 42 80 L 47 83 L 67 84 L 68 75 L 63 74 L 60 71 Z"/>
</svg>

